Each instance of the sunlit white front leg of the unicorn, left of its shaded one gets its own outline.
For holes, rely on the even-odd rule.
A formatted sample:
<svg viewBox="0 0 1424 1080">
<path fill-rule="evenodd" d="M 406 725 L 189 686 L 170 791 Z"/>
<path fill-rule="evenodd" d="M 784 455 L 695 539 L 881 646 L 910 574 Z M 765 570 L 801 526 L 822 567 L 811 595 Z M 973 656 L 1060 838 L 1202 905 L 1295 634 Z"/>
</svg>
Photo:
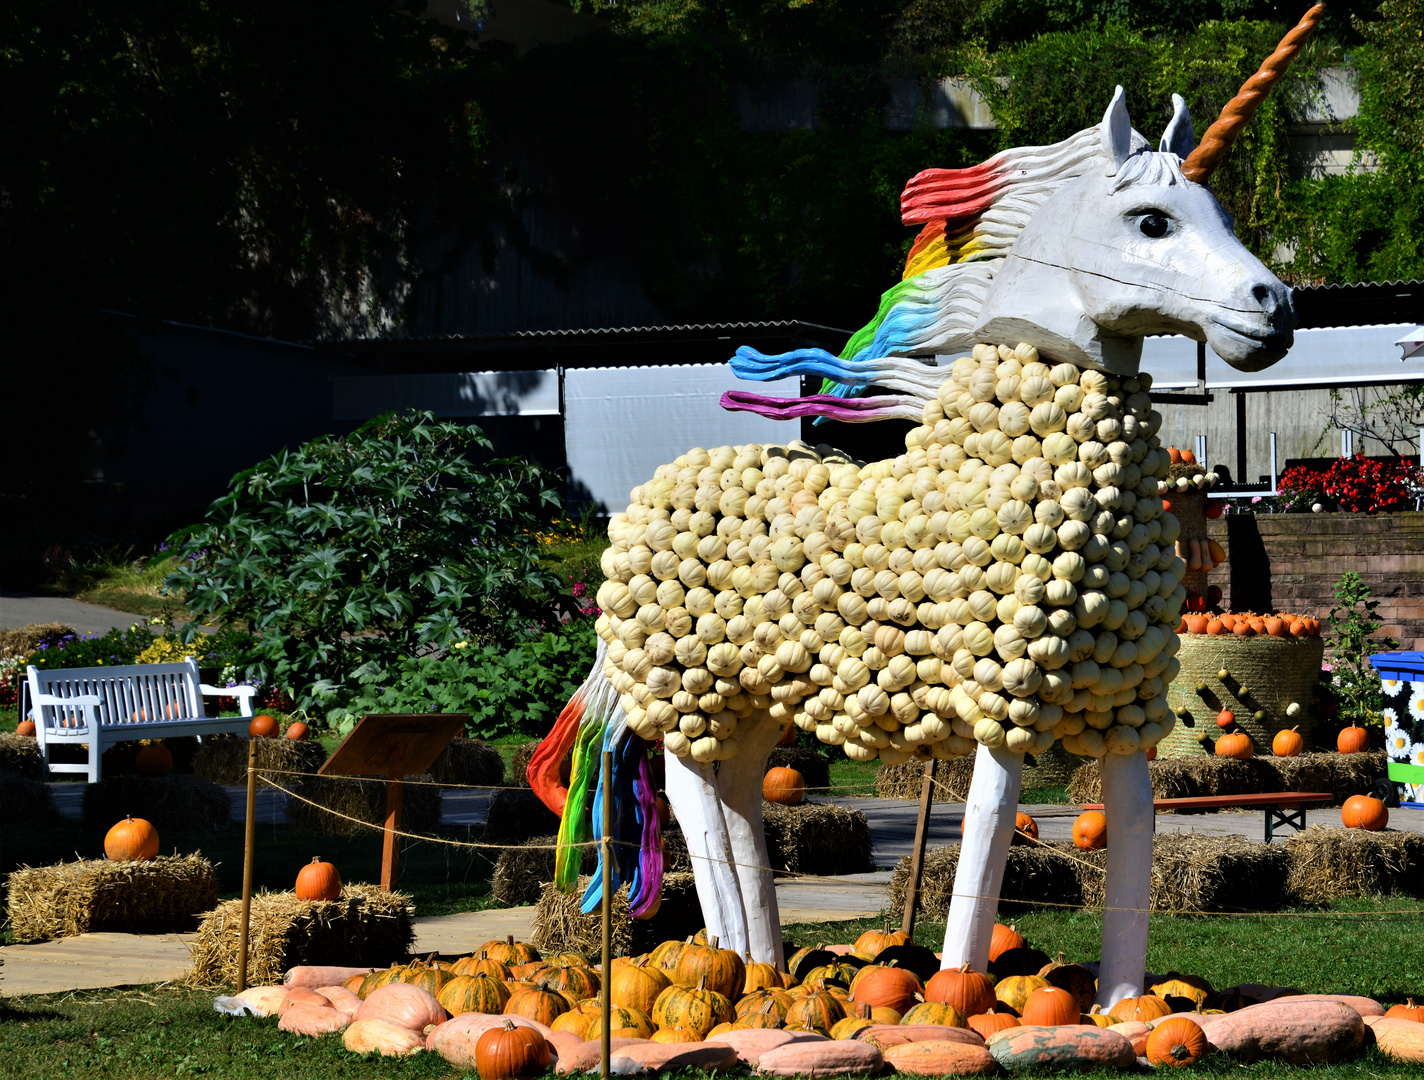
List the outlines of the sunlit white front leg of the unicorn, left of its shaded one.
<svg viewBox="0 0 1424 1080">
<path fill-rule="evenodd" d="M 988 945 L 1004 883 L 1004 861 L 1014 839 L 1022 778 L 1022 754 L 980 745 L 964 806 L 964 841 L 954 872 L 950 920 L 944 928 L 943 967 L 968 963 L 977 972 L 988 969 Z"/>
</svg>

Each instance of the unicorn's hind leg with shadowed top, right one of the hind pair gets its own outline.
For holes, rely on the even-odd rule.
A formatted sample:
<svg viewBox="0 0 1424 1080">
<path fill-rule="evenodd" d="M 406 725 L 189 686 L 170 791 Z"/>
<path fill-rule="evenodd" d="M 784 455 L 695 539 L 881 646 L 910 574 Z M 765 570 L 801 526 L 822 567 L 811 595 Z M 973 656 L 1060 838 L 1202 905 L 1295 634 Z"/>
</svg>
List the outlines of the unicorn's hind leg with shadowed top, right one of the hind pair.
<svg viewBox="0 0 1424 1080">
<path fill-rule="evenodd" d="M 738 724 L 738 755 L 723 761 L 718 769 L 718 794 L 736 861 L 736 879 L 742 886 L 746 950 L 753 960 L 778 966 L 782 962 L 782 920 L 776 908 L 776 882 L 772 871 L 763 869 L 770 866 L 770 861 L 762 828 L 762 778 L 766 755 L 783 729 L 785 724 L 778 724 L 770 714 L 752 714 Z"/>
</svg>

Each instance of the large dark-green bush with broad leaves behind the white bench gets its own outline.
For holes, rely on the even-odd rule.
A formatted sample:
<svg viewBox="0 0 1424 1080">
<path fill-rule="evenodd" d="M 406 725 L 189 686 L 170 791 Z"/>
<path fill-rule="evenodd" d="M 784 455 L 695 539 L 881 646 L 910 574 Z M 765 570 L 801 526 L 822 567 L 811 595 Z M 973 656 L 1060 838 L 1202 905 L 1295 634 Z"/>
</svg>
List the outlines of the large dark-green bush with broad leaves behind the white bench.
<svg viewBox="0 0 1424 1080">
<path fill-rule="evenodd" d="M 286 687 L 306 707 L 359 668 L 459 640 L 528 637 L 548 616 L 555 578 L 535 533 L 558 492 L 535 466 L 500 459 L 478 427 L 429 413 L 377 417 L 315 439 L 232 479 L 206 521 L 174 537 L 198 621 L 246 623 L 245 674 Z"/>
</svg>

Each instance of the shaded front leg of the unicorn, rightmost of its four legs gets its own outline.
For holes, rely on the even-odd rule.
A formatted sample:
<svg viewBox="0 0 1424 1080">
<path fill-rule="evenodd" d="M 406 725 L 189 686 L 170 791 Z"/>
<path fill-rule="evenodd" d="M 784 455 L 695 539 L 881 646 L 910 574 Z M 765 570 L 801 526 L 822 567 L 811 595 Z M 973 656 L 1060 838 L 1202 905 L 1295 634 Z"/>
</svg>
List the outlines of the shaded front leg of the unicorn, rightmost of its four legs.
<svg viewBox="0 0 1424 1080">
<path fill-rule="evenodd" d="M 1108 815 L 1108 893 L 1102 913 L 1098 1003 L 1106 1009 L 1142 993 L 1148 962 L 1148 900 L 1152 895 L 1152 779 L 1148 758 L 1109 754 L 1102 769 Z"/>
</svg>

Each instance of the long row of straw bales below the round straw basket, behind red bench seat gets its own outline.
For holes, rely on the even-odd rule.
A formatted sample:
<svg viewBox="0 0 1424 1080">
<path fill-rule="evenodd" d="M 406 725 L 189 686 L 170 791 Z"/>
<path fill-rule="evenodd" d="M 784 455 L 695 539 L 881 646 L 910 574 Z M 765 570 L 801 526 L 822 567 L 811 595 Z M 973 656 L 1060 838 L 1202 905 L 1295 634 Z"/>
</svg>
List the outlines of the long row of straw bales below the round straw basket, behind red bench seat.
<svg viewBox="0 0 1424 1080">
<path fill-rule="evenodd" d="M 1336 805 L 1364 795 L 1384 775 L 1386 755 L 1302 754 L 1294 758 L 1259 757 L 1246 761 L 1208 757 L 1158 758 L 1148 762 L 1152 798 L 1189 799 L 1203 795 L 1252 795 L 1266 791 L 1329 791 Z M 1102 802 L 1098 762 L 1079 765 L 1068 782 L 1071 801 Z M 1185 811 L 1205 814 L 1209 811 Z"/>
</svg>

